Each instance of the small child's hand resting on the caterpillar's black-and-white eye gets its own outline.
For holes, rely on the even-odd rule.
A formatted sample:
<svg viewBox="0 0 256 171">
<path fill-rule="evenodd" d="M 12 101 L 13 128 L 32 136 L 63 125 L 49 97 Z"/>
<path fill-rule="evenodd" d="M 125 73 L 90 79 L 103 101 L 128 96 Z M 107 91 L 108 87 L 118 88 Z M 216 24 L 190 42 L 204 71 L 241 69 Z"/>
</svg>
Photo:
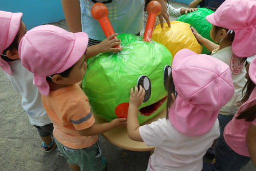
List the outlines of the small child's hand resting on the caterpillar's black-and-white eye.
<svg viewBox="0 0 256 171">
<path fill-rule="evenodd" d="M 131 89 L 131 94 L 130 94 L 130 105 L 134 105 L 137 108 L 142 104 L 145 96 L 145 89 L 142 88 L 140 85 L 140 91 L 138 90 L 138 87 L 135 86 L 135 92 L 133 88 Z"/>
</svg>

